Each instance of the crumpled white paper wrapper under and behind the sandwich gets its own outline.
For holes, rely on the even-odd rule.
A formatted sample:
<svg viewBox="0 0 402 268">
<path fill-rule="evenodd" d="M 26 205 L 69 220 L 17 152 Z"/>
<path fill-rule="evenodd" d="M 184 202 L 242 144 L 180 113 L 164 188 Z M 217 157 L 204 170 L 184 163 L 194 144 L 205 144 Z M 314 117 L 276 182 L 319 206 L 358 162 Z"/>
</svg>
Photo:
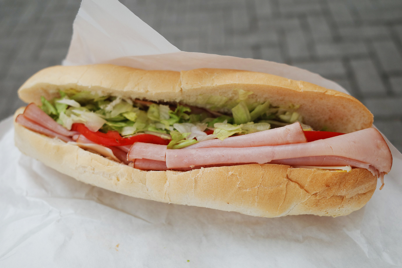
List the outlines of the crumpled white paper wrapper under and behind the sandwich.
<svg viewBox="0 0 402 268">
<path fill-rule="evenodd" d="M 179 51 L 116 0 L 84 0 L 64 64 L 101 62 L 251 70 L 346 92 L 284 64 Z M 402 266 L 402 155 L 392 145 L 384 189 L 363 209 L 337 218 L 265 219 L 77 182 L 22 155 L 13 133 L 11 118 L 0 123 L 0 267 Z"/>
</svg>

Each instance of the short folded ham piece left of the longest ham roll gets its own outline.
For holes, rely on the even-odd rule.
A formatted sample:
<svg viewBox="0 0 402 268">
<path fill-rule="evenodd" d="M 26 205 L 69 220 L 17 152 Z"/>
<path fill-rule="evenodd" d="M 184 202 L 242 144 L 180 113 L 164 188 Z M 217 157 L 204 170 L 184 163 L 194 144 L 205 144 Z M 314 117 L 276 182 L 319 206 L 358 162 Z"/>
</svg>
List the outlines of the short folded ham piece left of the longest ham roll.
<svg viewBox="0 0 402 268">
<path fill-rule="evenodd" d="M 134 160 L 139 158 L 165 161 L 166 145 L 136 142 L 131 146 L 127 155 L 127 160 Z M 174 150 L 180 151 L 180 150 Z"/>
</svg>

